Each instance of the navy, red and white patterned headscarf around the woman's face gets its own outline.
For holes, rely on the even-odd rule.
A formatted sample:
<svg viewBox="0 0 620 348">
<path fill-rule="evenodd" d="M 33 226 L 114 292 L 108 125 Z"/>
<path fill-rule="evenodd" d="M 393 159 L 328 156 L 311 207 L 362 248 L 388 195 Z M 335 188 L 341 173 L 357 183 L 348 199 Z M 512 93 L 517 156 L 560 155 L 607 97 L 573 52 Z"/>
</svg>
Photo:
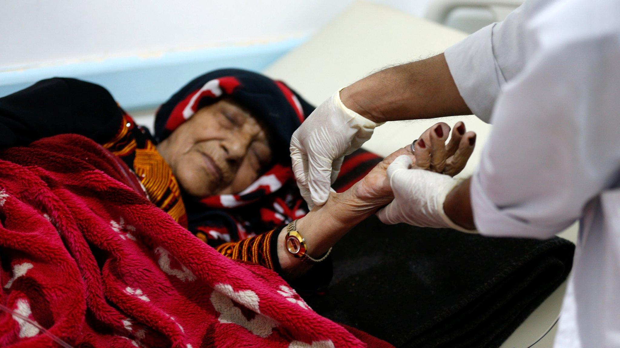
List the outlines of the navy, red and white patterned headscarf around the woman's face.
<svg viewBox="0 0 620 348">
<path fill-rule="evenodd" d="M 241 240 L 298 219 L 308 212 L 294 183 L 288 147 L 295 129 L 314 110 L 281 81 L 241 69 L 208 72 L 174 94 L 155 118 L 157 142 L 196 111 L 224 97 L 248 108 L 270 128 L 272 167 L 238 194 L 185 197 L 189 228 L 200 238 Z"/>
</svg>

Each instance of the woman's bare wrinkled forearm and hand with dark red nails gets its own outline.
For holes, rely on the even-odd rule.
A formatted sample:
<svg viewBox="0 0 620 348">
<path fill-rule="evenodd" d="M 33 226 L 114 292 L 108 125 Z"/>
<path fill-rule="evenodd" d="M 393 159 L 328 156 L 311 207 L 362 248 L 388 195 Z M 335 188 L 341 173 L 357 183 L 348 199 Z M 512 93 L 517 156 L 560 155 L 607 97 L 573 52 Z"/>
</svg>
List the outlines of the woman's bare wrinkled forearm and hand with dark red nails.
<svg viewBox="0 0 620 348">
<path fill-rule="evenodd" d="M 438 131 L 438 128 L 441 130 Z M 446 146 L 449 131 L 448 124 L 443 122 L 435 124 L 415 142 L 415 152 L 411 145 L 396 150 L 350 189 L 343 193 L 330 193 L 324 205 L 314 207 L 308 215 L 299 219 L 297 227 L 308 244 L 310 256 L 320 258 L 348 230 L 394 199 L 387 179 L 387 167 L 396 157 L 408 155 L 412 158 L 414 167 L 433 172 L 443 171 L 450 175 L 461 172 L 474 149 L 476 134 L 465 133 L 464 124 L 459 122 L 454 128 L 451 141 Z M 283 228 L 278 241 L 280 266 L 288 277 L 298 277 L 311 266 L 302 263 L 286 251 L 285 235 L 286 228 Z"/>
</svg>

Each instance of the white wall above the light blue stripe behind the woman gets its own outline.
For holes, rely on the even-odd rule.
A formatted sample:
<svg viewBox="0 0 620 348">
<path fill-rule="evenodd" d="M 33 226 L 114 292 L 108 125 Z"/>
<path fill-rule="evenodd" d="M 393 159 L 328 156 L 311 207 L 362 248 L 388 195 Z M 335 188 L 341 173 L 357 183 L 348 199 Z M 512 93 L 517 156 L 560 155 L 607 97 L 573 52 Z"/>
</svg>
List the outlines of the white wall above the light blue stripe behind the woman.
<svg viewBox="0 0 620 348">
<path fill-rule="evenodd" d="M 427 1 L 377 0 L 410 11 Z M 300 37 L 352 2 L 0 1 L 0 69 Z"/>
</svg>

